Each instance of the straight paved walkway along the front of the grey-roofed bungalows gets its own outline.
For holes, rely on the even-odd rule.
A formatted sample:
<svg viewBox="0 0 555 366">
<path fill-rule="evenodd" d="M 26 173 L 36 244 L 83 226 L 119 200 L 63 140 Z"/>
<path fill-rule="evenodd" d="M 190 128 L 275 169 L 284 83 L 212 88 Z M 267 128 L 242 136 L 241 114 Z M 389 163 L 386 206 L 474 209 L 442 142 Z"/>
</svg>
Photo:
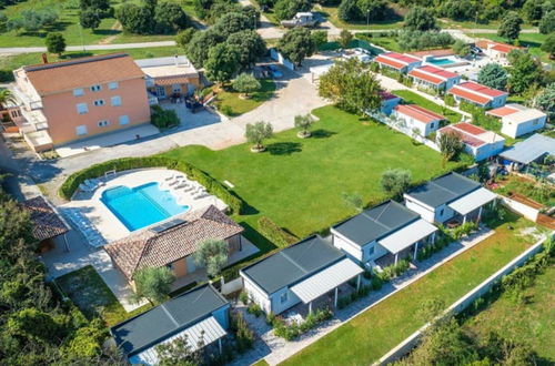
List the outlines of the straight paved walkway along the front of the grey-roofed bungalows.
<svg viewBox="0 0 555 366">
<path fill-rule="evenodd" d="M 259 333 L 254 348 L 240 358 L 234 359 L 232 365 L 251 365 L 261 358 L 270 365 L 276 365 L 494 234 L 493 230 L 482 227 L 468 237 L 451 243 L 430 258 L 416 263 L 417 266 L 412 266 L 411 270 L 385 284 L 381 289 L 372 291 L 369 296 L 350 304 L 343 309 L 336 309 L 331 321 L 311 329 L 292 342 L 285 342 L 283 338 L 275 336 L 273 329 L 265 325 L 263 318 L 255 318 L 253 315 L 244 312 L 244 308 L 240 307 L 239 309 L 242 311 L 249 326 L 255 328 Z"/>
</svg>

